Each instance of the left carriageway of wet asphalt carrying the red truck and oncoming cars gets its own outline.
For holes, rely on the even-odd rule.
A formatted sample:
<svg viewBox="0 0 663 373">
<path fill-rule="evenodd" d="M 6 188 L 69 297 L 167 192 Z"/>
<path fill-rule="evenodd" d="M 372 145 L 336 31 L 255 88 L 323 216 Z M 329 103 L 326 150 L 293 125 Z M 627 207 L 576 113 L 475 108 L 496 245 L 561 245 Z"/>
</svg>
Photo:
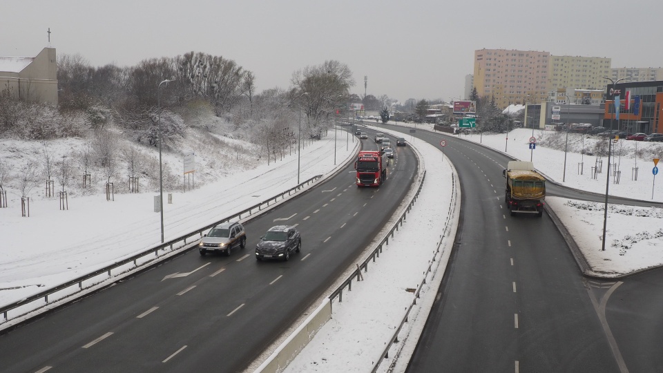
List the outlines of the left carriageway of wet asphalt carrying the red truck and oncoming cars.
<svg viewBox="0 0 663 373">
<path fill-rule="evenodd" d="M 0 371 L 242 370 L 356 261 L 398 207 L 416 160 L 406 148 L 391 162 L 379 189 L 358 189 L 351 163 L 248 222 L 247 248 L 230 257 L 189 251 L 5 332 Z M 302 252 L 257 262 L 258 239 L 277 224 L 297 224 Z"/>
</svg>

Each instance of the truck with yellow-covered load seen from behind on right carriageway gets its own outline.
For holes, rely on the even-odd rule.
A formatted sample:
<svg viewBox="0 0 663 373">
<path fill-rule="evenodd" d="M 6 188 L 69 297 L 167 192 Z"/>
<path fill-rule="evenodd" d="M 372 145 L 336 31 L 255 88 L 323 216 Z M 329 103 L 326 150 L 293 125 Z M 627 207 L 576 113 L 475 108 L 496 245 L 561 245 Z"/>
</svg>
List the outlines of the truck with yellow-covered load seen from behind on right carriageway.
<svg viewBox="0 0 663 373">
<path fill-rule="evenodd" d="M 502 171 L 506 178 L 504 202 L 511 216 L 515 213 L 544 213 L 546 178 L 534 169 L 532 162 L 511 161 Z"/>
</svg>

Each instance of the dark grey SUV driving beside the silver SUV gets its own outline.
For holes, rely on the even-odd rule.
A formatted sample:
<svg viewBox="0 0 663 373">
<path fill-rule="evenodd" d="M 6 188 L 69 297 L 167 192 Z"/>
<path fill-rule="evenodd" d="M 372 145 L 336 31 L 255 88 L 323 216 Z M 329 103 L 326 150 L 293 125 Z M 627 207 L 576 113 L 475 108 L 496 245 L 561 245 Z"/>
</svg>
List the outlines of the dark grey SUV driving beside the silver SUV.
<svg viewBox="0 0 663 373">
<path fill-rule="evenodd" d="M 292 251 L 298 253 L 301 249 L 302 237 L 299 231 L 289 225 L 277 225 L 260 238 L 256 246 L 256 260 L 289 260 Z"/>
</svg>

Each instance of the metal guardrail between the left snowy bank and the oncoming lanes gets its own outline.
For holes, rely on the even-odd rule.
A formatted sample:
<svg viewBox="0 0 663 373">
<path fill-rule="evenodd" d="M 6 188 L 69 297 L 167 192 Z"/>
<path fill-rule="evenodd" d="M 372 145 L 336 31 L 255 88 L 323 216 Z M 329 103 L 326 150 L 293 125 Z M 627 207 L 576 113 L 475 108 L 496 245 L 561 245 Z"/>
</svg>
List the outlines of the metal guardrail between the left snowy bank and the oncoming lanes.
<svg viewBox="0 0 663 373">
<path fill-rule="evenodd" d="M 27 298 L 23 298 L 23 299 L 15 302 L 15 303 L 10 303 L 9 305 L 5 305 L 3 307 L 0 307 L 0 314 L 2 314 L 2 318 L 0 319 L 0 327 L 2 327 L 3 323 L 7 323 L 8 321 L 11 321 L 15 318 L 19 318 L 21 316 L 25 316 L 26 314 L 29 314 L 30 312 L 34 312 L 37 309 L 40 309 L 42 307 L 46 307 L 46 306 L 51 305 L 53 303 L 56 303 L 60 300 L 64 300 L 66 298 L 69 298 L 73 294 L 80 293 L 81 291 L 89 289 L 90 287 L 98 285 L 99 283 L 103 283 L 104 281 L 109 280 L 109 279 L 113 278 L 114 276 L 118 276 L 119 274 L 124 274 L 128 271 L 136 269 L 137 267 L 142 267 L 146 264 L 151 264 L 155 261 L 155 259 L 160 258 L 160 255 L 159 255 L 160 251 L 162 251 L 161 256 L 164 256 L 166 254 L 171 254 L 173 251 L 175 251 L 177 249 L 180 249 L 180 248 L 188 245 L 189 243 L 193 242 L 193 240 L 191 240 L 190 242 L 186 242 L 186 241 L 191 239 L 191 238 L 194 238 L 194 236 L 195 236 L 195 240 L 200 239 L 202 237 L 202 232 L 204 232 L 208 229 L 211 229 L 211 227 L 214 227 L 217 224 L 221 224 L 222 222 L 227 222 L 227 221 L 230 221 L 230 220 L 233 220 L 233 219 L 240 220 L 240 219 L 242 219 L 242 216 L 247 216 L 247 214 L 248 214 L 248 216 L 251 216 L 254 213 L 254 211 L 256 211 L 256 210 L 257 210 L 256 212 L 260 212 L 260 211 L 262 211 L 263 207 L 269 207 L 269 204 L 272 201 L 273 201 L 274 204 L 276 204 L 276 202 L 279 200 L 279 198 L 280 198 L 280 200 L 283 200 L 283 199 L 285 199 L 286 195 L 289 196 L 293 192 L 299 191 L 299 189 L 301 189 L 302 187 L 305 187 L 308 184 L 314 183 L 322 177 L 323 177 L 323 175 L 316 175 L 313 178 L 310 178 L 309 180 L 306 180 L 305 182 L 302 182 L 302 183 L 298 184 L 296 187 L 293 187 L 293 188 L 288 189 L 287 191 L 285 191 L 283 193 L 275 195 L 275 196 L 269 198 L 268 200 L 264 200 L 264 201 L 262 201 L 258 204 L 255 204 L 255 205 L 249 207 L 248 209 L 244 209 L 244 210 L 240 211 L 240 213 L 236 213 L 233 216 L 230 216 L 228 218 L 224 218 L 222 220 L 219 220 L 218 222 L 214 222 L 212 224 L 206 225 L 206 227 L 196 229 L 195 231 L 184 234 L 184 236 L 180 236 L 180 237 L 175 238 L 173 240 L 170 240 L 168 242 L 164 242 L 161 245 L 158 245 L 156 247 L 152 247 L 150 249 L 142 251 L 141 253 L 136 254 L 134 256 L 131 256 L 129 258 L 119 260 L 117 262 L 114 262 L 112 265 L 108 265 L 108 266 L 106 266 L 102 269 L 98 269 L 97 271 L 93 271 L 93 272 L 91 272 L 89 274 L 86 274 L 84 276 L 80 276 L 80 277 L 75 278 L 73 280 L 70 280 L 66 283 L 57 285 L 57 286 L 52 287 L 50 289 L 46 289 L 46 290 L 41 291 L 38 294 L 35 294 L 33 296 L 28 296 Z M 179 247 L 173 248 L 173 245 L 175 245 L 179 242 L 183 242 L 183 244 L 180 245 Z M 153 258 L 148 258 L 148 260 L 146 260 L 144 262 L 141 262 L 140 265 L 138 264 L 138 260 L 146 258 L 147 256 L 151 256 L 153 254 L 154 254 Z M 112 274 L 111 273 L 114 269 L 118 269 L 119 267 L 123 267 L 123 266 L 126 266 L 126 265 L 131 265 L 131 264 L 133 264 L 133 267 L 131 267 L 131 268 L 122 269 L 117 274 Z M 108 274 L 108 275 L 104 276 L 104 278 L 102 278 L 102 279 L 94 280 L 95 277 L 101 276 L 103 274 Z M 86 283 L 85 286 L 84 286 L 84 282 L 86 282 L 88 280 L 90 280 L 91 283 Z M 64 292 L 64 290 L 66 290 L 70 287 L 76 286 L 76 285 L 78 286 L 78 289 L 73 291 L 73 292 L 70 292 L 70 293 L 67 293 L 67 294 L 62 294 L 60 297 L 57 297 L 57 298 L 55 298 L 53 296 L 54 294 L 56 294 L 60 291 Z M 50 300 L 49 300 L 49 296 L 51 296 Z M 53 298 L 55 298 L 55 299 L 53 299 Z M 31 307 L 29 309 L 23 309 L 24 307 L 28 307 L 28 305 L 30 305 L 30 303 L 35 303 L 37 301 L 41 301 L 42 299 L 43 299 L 43 303 L 41 303 L 40 305 L 35 305 L 35 307 Z M 21 308 L 21 311 L 17 311 L 16 315 L 10 315 L 10 312 L 12 312 L 14 310 L 17 310 L 19 308 Z M 10 318 L 10 316 L 12 316 L 12 317 Z"/>
</svg>

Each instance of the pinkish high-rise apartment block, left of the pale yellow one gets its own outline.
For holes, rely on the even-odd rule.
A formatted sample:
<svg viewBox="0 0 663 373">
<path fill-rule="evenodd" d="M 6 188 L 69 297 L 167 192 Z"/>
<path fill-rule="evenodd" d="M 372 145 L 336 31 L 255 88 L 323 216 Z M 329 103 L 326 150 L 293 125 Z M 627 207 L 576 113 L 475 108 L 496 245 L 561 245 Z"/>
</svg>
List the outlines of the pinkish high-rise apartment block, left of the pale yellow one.
<svg viewBox="0 0 663 373">
<path fill-rule="evenodd" d="M 545 101 L 549 62 L 550 52 L 474 50 L 474 87 L 480 97 L 494 97 L 501 108 Z"/>
</svg>

